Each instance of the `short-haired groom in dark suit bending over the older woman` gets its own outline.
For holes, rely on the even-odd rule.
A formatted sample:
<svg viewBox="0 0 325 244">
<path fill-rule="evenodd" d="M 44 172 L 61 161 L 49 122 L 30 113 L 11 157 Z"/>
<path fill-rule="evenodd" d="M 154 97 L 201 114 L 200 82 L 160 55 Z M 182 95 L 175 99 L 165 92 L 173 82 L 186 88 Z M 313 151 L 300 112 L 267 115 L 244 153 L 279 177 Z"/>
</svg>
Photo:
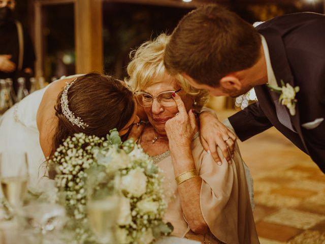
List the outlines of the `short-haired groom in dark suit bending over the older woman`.
<svg viewBox="0 0 325 244">
<path fill-rule="evenodd" d="M 164 61 L 213 96 L 237 97 L 254 87 L 258 102 L 229 117 L 239 139 L 274 126 L 325 172 L 324 15 L 289 14 L 254 28 L 205 5 L 181 19 Z"/>
</svg>

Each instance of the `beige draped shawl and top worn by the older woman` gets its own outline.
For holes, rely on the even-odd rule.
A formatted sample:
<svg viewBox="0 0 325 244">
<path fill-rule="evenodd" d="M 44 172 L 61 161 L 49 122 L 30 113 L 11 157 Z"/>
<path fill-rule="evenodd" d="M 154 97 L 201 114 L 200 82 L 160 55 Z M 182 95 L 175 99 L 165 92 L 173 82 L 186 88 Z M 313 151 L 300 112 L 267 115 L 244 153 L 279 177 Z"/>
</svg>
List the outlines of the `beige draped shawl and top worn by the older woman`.
<svg viewBox="0 0 325 244">
<path fill-rule="evenodd" d="M 201 211 L 210 228 L 210 235 L 224 243 L 259 243 L 238 145 L 236 144 L 231 165 L 225 159 L 221 166 L 217 165 L 203 149 L 199 138 L 192 142 L 192 155 L 203 179 Z M 222 155 L 220 150 L 219 155 Z M 168 198 L 171 198 L 165 221 L 173 224 L 175 229 L 172 235 L 204 242 L 207 236 L 191 232 L 183 216 L 171 157 L 161 160 L 157 165 L 165 173 L 166 191 Z M 208 238 L 210 243 L 220 243 L 209 236 Z"/>
</svg>

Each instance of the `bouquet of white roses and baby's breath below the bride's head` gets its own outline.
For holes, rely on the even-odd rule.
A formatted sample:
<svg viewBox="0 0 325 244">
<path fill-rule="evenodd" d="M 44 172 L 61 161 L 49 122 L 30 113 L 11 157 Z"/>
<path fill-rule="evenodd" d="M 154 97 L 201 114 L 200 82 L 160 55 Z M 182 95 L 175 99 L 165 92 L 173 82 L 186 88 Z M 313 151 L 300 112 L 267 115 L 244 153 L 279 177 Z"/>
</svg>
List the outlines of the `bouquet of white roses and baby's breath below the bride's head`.
<svg viewBox="0 0 325 244">
<path fill-rule="evenodd" d="M 82 133 L 68 137 L 51 163 L 79 242 L 94 240 L 86 211 L 89 195 L 108 194 L 112 186 L 120 193 L 119 243 L 148 244 L 172 232 L 171 224 L 163 222 L 167 204 L 159 168 L 133 139 L 122 143 L 116 129 L 107 140 Z"/>
</svg>

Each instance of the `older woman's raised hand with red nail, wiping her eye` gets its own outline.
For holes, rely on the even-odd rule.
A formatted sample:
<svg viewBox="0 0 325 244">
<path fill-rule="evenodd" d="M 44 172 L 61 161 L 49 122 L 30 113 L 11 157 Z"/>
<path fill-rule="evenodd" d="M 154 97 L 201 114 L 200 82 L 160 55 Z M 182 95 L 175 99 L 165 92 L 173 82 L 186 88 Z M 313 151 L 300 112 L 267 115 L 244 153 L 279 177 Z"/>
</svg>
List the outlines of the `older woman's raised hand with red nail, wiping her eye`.
<svg viewBox="0 0 325 244">
<path fill-rule="evenodd" d="M 192 109 L 187 113 L 182 99 L 178 94 L 173 94 L 177 104 L 178 113 L 165 124 L 165 130 L 169 139 L 170 149 L 190 148 L 194 133 L 196 132 L 196 118 Z"/>
</svg>

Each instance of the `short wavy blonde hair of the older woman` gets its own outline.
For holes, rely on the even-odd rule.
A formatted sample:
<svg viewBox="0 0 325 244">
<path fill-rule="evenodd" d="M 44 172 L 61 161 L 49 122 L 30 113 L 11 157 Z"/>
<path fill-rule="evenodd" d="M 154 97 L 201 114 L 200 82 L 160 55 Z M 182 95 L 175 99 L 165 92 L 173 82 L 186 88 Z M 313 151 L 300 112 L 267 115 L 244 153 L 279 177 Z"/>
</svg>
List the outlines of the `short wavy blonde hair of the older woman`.
<svg viewBox="0 0 325 244">
<path fill-rule="evenodd" d="M 129 77 L 125 78 L 125 82 L 135 92 L 145 89 L 167 72 L 164 66 L 164 53 L 169 39 L 170 36 L 160 34 L 154 40 L 144 42 L 137 50 L 130 53 L 131 62 L 127 66 Z M 208 101 L 208 92 L 190 86 L 180 74 L 172 77 L 175 78 L 182 90 L 197 102 L 194 109 L 200 110 Z"/>
</svg>

